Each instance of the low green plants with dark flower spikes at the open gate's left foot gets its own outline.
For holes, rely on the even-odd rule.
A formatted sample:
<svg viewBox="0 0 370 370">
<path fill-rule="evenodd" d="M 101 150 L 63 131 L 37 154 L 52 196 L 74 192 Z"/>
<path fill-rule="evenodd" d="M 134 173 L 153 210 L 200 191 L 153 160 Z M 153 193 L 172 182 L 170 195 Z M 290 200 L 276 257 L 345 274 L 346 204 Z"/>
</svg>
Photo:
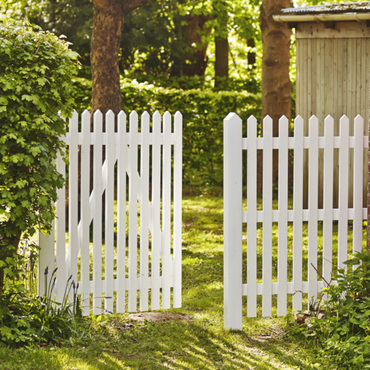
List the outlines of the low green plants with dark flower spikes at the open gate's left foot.
<svg viewBox="0 0 370 370">
<path fill-rule="evenodd" d="M 62 303 L 52 299 L 56 271 L 49 278 L 48 270 L 45 270 L 44 296 L 8 289 L 0 297 L 0 337 L 3 344 L 24 346 L 86 337 L 88 325 L 82 318 L 78 285 L 69 283 L 71 277 L 67 281 Z M 69 303 L 71 289 L 73 301 Z"/>
</svg>

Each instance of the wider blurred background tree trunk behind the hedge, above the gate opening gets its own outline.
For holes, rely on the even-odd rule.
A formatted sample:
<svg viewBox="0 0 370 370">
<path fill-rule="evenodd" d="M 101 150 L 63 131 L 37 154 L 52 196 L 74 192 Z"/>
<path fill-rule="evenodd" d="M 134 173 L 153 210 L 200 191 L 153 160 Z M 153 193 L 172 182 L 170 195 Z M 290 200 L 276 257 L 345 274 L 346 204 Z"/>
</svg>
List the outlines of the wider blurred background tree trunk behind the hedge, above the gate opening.
<svg viewBox="0 0 370 370">
<path fill-rule="evenodd" d="M 207 31 L 205 23 L 209 19 L 211 19 L 211 16 L 202 14 L 199 16 L 186 16 L 187 24 L 178 26 L 178 34 L 185 39 L 188 49 L 185 50 L 183 58 L 173 63 L 171 76 L 204 76 L 208 63 L 208 43 L 202 42 L 202 33 Z M 187 60 L 186 64 L 185 60 Z"/>
</svg>

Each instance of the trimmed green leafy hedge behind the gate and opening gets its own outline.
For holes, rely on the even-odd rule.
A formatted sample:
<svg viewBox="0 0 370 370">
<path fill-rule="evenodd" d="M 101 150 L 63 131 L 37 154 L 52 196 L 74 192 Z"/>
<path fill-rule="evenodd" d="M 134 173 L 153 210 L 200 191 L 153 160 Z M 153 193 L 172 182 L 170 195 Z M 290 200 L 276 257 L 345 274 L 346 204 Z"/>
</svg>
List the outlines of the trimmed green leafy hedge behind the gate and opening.
<svg viewBox="0 0 370 370">
<path fill-rule="evenodd" d="M 76 110 L 90 108 L 91 81 L 76 79 Z M 192 187 L 214 187 L 223 183 L 223 120 L 236 112 L 246 122 L 255 115 L 260 122 L 260 94 L 234 91 L 180 90 L 136 81 L 122 81 L 123 110 L 151 115 L 158 110 L 183 114 L 183 177 Z M 243 125 L 246 129 L 246 125 Z M 245 132 L 244 132 L 245 134 Z"/>
</svg>

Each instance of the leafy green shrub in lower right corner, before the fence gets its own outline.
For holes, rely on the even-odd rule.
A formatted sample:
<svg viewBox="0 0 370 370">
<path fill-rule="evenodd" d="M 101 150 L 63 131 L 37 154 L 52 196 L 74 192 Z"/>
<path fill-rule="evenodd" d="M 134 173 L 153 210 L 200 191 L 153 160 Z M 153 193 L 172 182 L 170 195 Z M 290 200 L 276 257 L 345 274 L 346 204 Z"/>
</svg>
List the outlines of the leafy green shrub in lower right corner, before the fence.
<svg viewBox="0 0 370 370">
<path fill-rule="evenodd" d="M 318 342 L 328 364 L 370 369 L 370 254 L 358 253 L 345 265 L 333 277 L 337 284 L 324 289 L 328 301 L 317 308 L 320 315 L 299 330 Z"/>
</svg>

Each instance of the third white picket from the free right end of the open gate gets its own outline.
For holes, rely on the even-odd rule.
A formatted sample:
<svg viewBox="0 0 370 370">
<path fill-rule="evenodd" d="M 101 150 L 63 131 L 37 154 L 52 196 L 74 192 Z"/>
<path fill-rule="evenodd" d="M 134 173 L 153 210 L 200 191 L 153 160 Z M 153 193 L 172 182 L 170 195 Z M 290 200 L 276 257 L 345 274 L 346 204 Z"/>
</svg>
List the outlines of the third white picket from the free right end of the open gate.
<svg viewBox="0 0 370 370">
<path fill-rule="evenodd" d="M 151 152 L 151 310 L 160 308 L 160 250 L 161 236 L 161 115 L 158 110 L 153 115 L 153 147 Z"/>
</svg>

